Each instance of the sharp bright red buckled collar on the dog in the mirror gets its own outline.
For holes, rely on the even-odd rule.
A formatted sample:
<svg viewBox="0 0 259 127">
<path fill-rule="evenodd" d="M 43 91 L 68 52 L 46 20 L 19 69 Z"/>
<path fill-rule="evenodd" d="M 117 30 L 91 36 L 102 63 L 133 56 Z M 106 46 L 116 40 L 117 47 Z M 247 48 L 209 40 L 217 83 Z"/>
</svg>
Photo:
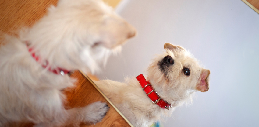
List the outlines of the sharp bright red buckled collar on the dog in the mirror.
<svg viewBox="0 0 259 127">
<path fill-rule="evenodd" d="M 143 88 L 143 90 L 146 92 L 147 96 L 151 99 L 151 101 L 153 103 L 157 104 L 158 106 L 160 106 L 163 109 L 168 109 L 169 110 L 169 108 L 172 108 L 171 104 L 169 104 L 166 101 L 164 101 L 163 99 L 161 99 L 159 94 L 156 91 L 154 91 L 154 89 L 152 88 L 151 84 L 149 83 L 149 81 L 147 81 L 145 79 L 143 74 L 140 74 L 136 78 L 139 81 L 139 83 L 140 83 L 141 87 Z"/>
</svg>

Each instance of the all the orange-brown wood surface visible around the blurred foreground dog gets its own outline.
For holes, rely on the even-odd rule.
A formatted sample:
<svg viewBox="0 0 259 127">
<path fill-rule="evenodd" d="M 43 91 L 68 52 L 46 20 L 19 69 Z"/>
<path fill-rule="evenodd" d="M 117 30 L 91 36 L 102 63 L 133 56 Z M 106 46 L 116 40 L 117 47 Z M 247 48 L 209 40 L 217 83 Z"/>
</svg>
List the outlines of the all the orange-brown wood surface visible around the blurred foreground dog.
<svg viewBox="0 0 259 127">
<path fill-rule="evenodd" d="M 58 0 L 1 0 L 0 1 L 0 37 L 3 34 L 17 36 L 18 30 L 31 27 L 47 12 L 50 5 L 56 5 Z M 1 42 L 0 42 L 1 43 Z M 76 78 L 74 88 L 69 88 L 64 93 L 67 96 L 65 107 L 83 107 L 96 101 L 108 103 L 101 93 L 79 71 L 71 75 Z M 98 80 L 98 79 L 96 79 Z M 110 110 L 96 125 L 82 124 L 82 127 L 130 127 L 121 115 L 108 103 Z M 13 123 L 13 126 L 33 126 L 32 123 Z"/>
</svg>

